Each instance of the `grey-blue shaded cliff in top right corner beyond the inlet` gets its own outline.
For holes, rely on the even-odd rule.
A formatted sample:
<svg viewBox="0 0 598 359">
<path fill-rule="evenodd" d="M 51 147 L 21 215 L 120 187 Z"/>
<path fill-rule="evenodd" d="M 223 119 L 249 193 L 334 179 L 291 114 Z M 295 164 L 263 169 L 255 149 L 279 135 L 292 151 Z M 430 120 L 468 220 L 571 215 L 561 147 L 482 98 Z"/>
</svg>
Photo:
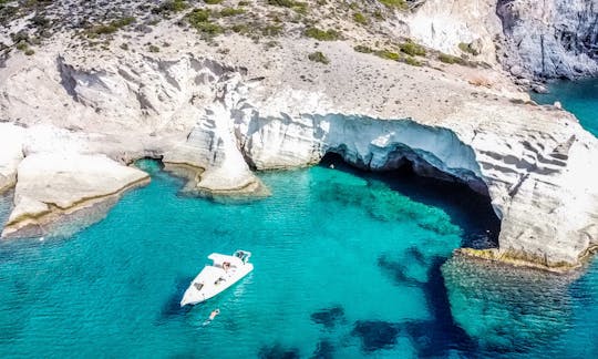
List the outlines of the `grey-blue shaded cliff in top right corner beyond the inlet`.
<svg viewBox="0 0 598 359">
<path fill-rule="evenodd" d="M 507 58 L 516 75 L 579 78 L 598 74 L 596 0 L 499 0 Z"/>
</svg>

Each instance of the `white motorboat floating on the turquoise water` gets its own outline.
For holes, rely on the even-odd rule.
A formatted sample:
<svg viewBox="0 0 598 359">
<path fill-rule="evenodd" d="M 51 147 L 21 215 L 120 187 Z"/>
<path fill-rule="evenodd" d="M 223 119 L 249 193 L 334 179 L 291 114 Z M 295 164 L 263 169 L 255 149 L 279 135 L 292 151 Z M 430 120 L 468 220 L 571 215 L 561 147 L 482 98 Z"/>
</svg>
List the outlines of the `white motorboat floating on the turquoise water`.
<svg viewBox="0 0 598 359">
<path fill-rule="evenodd" d="M 212 259 L 213 264 L 205 266 L 193 279 L 181 300 L 181 307 L 213 298 L 248 275 L 254 270 L 249 257 L 251 253 L 247 250 L 237 250 L 231 256 L 210 254 L 208 259 Z"/>
</svg>

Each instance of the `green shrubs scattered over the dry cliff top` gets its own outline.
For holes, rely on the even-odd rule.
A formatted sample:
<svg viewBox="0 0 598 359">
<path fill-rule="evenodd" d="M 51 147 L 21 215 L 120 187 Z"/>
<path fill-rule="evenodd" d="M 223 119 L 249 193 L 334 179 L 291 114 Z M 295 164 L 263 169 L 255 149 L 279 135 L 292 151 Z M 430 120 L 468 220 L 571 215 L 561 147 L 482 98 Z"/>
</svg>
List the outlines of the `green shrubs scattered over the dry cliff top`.
<svg viewBox="0 0 598 359">
<path fill-rule="evenodd" d="M 0 0 L 0 19 L 8 11 L 8 8 L 10 8 L 10 11 L 18 11 L 19 16 L 23 13 L 24 8 L 29 8 L 34 9 L 35 16 L 31 18 L 32 27 L 29 28 L 30 30 L 25 35 L 44 28 L 58 31 L 61 25 L 72 27 L 75 23 L 74 21 L 61 23 L 60 17 L 56 18 L 58 10 L 55 8 L 58 3 L 51 0 Z M 353 44 L 354 50 L 410 65 L 426 64 L 427 61 L 422 60 L 422 58 L 443 63 L 470 63 L 461 58 L 435 51 L 429 53 L 429 50 L 413 40 L 401 38 L 400 34 L 392 34 L 384 30 L 384 23 L 392 20 L 396 11 L 409 11 L 416 7 L 417 3 L 417 1 L 413 0 L 373 0 L 369 2 L 331 0 L 264 0 L 257 2 L 243 0 L 165 0 L 135 7 L 125 2 L 111 2 L 107 4 L 109 9 L 95 7 L 95 2 L 93 2 L 81 6 L 73 11 L 83 11 L 85 13 L 85 17 L 81 18 L 83 19 L 82 22 L 80 19 L 83 31 L 79 29 L 76 32 L 83 34 L 82 39 L 86 41 L 87 45 L 95 47 L 100 44 L 103 49 L 110 47 L 110 42 L 120 31 L 150 33 L 152 32 L 151 27 L 161 21 L 169 21 L 173 25 L 188 27 L 196 30 L 200 39 L 207 41 L 217 41 L 217 35 L 226 33 L 244 35 L 256 42 L 270 39 L 265 41 L 266 50 L 280 43 L 271 40 L 271 38 L 277 37 L 291 39 L 302 37 L 316 41 L 343 40 L 349 42 L 357 41 L 357 39 L 373 38 L 375 41 L 372 41 L 372 43 Z M 76 17 L 78 13 L 74 13 L 74 16 Z M 100 23 L 90 23 L 84 20 L 102 18 L 105 20 Z M 68 20 L 73 19 L 69 18 Z M 27 49 L 29 49 L 29 45 L 33 43 L 30 39 L 38 38 L 30 35 L 20 48 L 24 49 L 24 45 L 28 45 Z M 93 41 L 93 39 L 97 40 Z M 159 39 L 156 38 L 156 40 Z M 19 41 L 14 41 L 12 47 L 16 47 Z M 2 47 L 0 44 L 0 50 Z M 458 48 L 467 54 L 475 54 L 476 51 L 473 44 L 467 43 L 462 43 Z M 7 49 L 7 47 L 4 45 L 3 49 Z M 145 50 L 150 50 L 147 44 Z M 25 50 L 21 51 L 24 52 Z M 321 52 L 315 52 L 311 57 L 316 60 L 310 60 L 323 63 L 320 60 L 326 57 L 319 57 L 318 53 Z"/>
</svg>

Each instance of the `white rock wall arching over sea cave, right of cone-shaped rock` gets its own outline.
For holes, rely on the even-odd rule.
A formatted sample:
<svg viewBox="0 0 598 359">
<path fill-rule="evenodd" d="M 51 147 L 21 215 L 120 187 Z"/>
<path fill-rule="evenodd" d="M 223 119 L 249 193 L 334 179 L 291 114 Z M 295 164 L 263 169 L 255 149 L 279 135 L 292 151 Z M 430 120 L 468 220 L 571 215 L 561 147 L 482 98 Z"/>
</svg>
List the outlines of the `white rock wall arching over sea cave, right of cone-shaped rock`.
<svg viewBox="0 0 598 359">
<path fill-rule="evenodd" d="M 597 141 L 566 112 L 470 103 L 429 126 L 338 114 L 260 119 L 256 111 L 239 132 L 257 168 L 313 163 L 329 151 L 372 171 L 409 160 L 422 175 L 447 174 L 489 194 L 502 219 L 493 258 L 570 267 L 598 244 L 598 193 L 588 173 Z"/>
</svg>

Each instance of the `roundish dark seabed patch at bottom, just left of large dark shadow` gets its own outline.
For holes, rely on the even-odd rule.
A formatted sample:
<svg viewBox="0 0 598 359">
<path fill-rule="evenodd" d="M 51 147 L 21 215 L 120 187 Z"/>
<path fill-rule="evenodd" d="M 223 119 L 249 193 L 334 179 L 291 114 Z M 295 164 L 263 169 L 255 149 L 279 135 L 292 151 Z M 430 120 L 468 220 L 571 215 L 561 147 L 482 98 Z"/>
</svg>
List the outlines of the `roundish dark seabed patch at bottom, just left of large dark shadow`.
<svg viewBox="0 0 598 359">
<path fill-rule="evenodd" d="M 372 353 L 381 349 L 390 349 L 396 345 L 399 326 L 382 320 L 358 320 L 351 331 L 361 339 L 361 350 Z"/>
</svg>

